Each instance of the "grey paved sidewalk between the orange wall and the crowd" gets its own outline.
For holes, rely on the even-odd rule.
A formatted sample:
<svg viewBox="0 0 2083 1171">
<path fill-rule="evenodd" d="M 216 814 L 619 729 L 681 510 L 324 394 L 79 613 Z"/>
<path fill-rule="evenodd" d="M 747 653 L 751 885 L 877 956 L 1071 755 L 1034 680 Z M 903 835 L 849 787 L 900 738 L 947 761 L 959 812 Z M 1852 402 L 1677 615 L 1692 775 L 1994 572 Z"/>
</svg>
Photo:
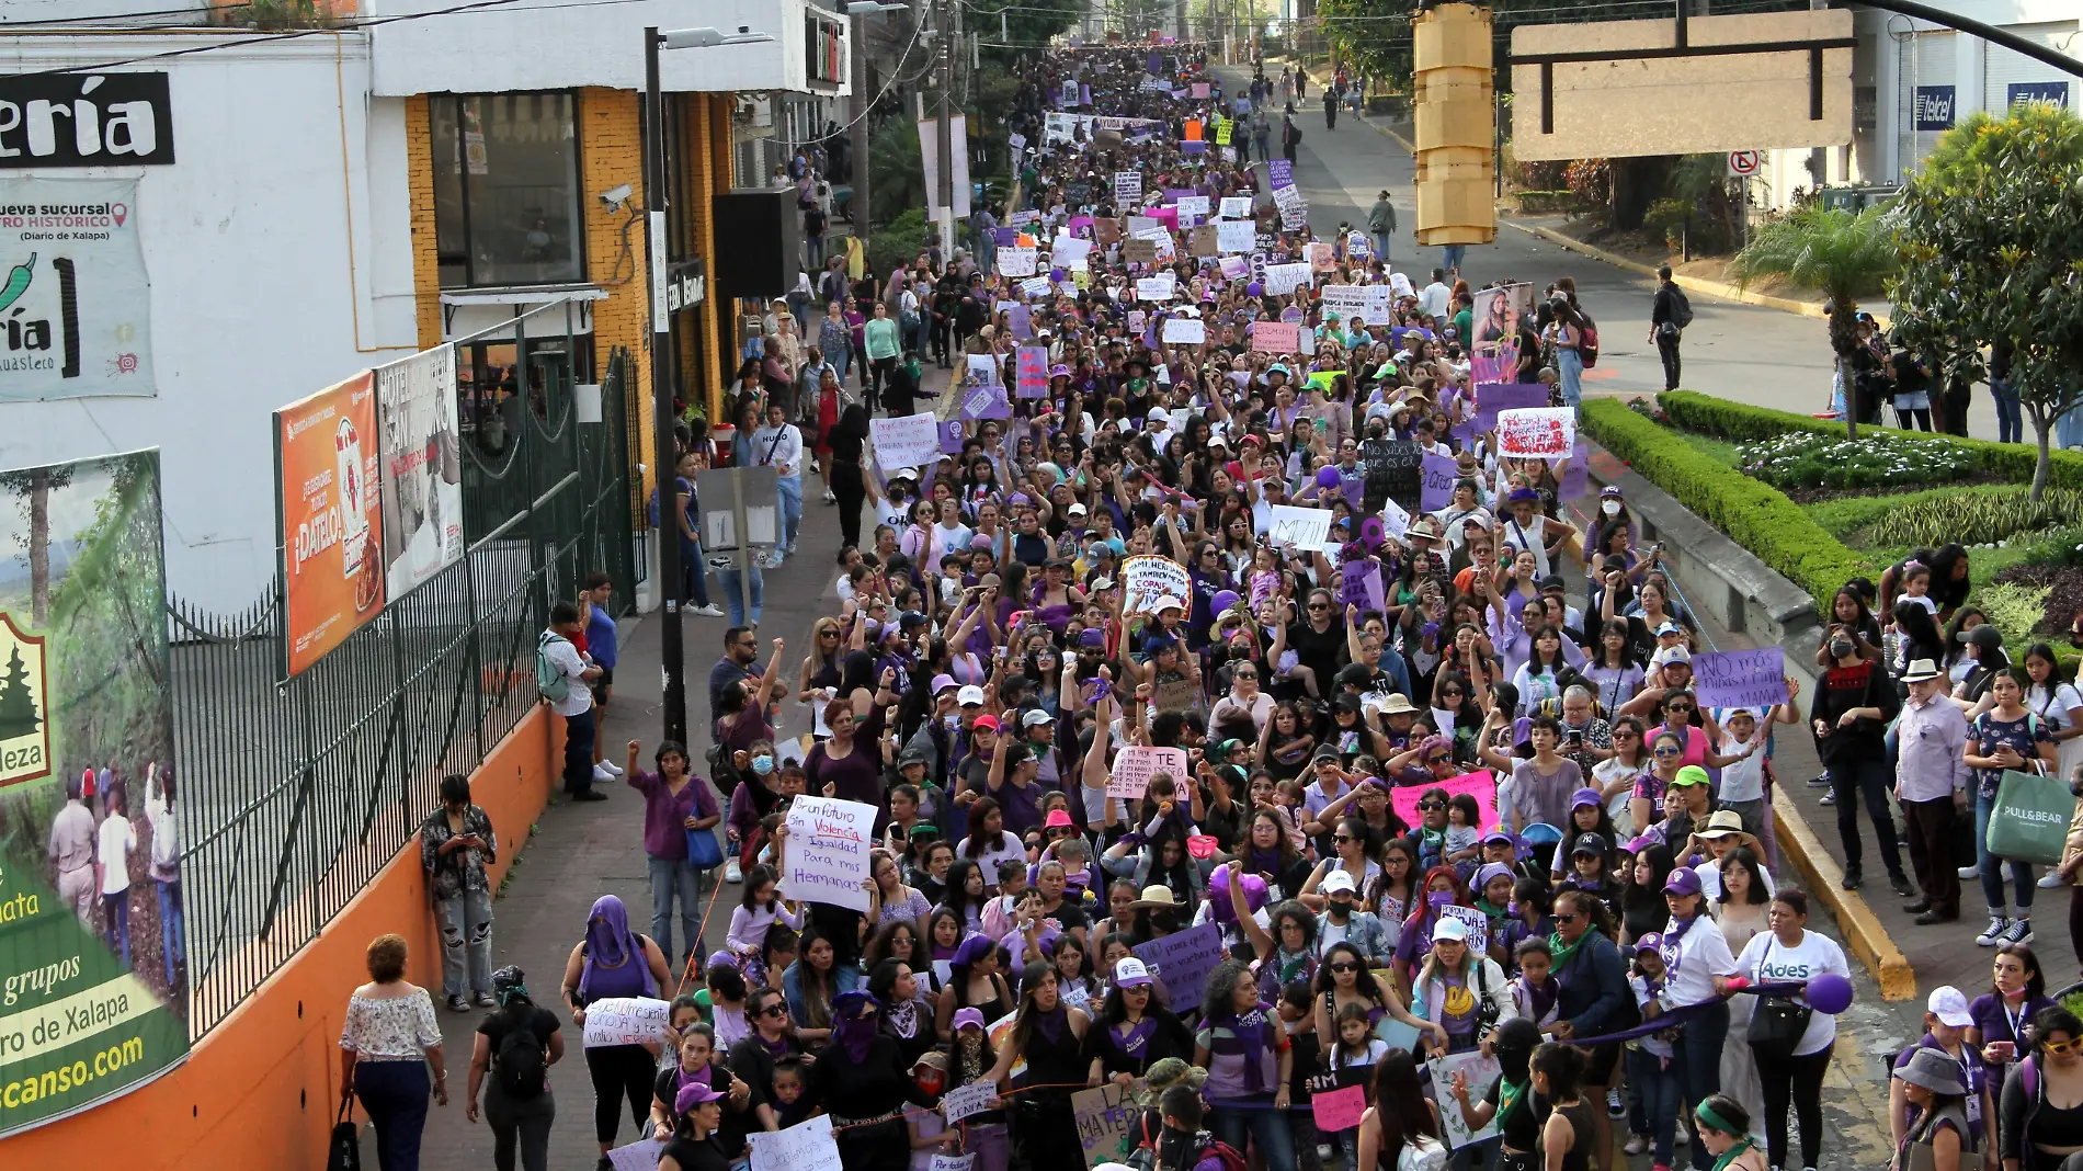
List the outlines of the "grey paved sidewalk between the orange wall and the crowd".
<svg viewBox="0 0 2083 1171">
<path fill-rule="evenodd" d="M 837 600 L 833 556 L 839 548 L 837 513 L 821 504 L 823 485 L 814 473 L 804 477 L 804 517 L 798 535 L 802 550 L 781 569 L 764 575 L 764 613 L 760 615 L 760 663 L 771 654 L 771 640 L 785 638 L 781 667 L 794 696 L 796 669 L 806 654 L 810 623 L 821 613 L 833 613 Z M 687 731 L 694 758 L 708 750 L 708 669 L 723 654 L 723 631 L 729 619 L 681 619 L 687 679 Z M 602 744 L 610 761 L 621 763 L 631 740 L 642 740 L 639 758 L 650 765 L 660 736 L 662 679 L 658 665 L 660 623 L 652 617 L 623 621 L 621 661 L 617 663 L 614 702 L 602 719 Z M 808 731 L 808 713 L 789 702 L 783 733 Z M 556 1096 L 558 1119 L 550 1131 L 550 1167 L 587 1171 L 600 1158 L 594 1142 L 594 1088 L 585 1073 L 579 1033 L 571 1027 L 571 1011 L 558 988 L 564 963 L 585 933 L 585 915 L 602 894 L 621 896 L 629 906 L 629 923 L 650 933 L 650 881 L 642 850 L 644 798 L 627 783 L 602 786 L 604 802 L 571 804 L 552 796 L 550 808 L 535 823 L 533 836 L 500 900 L 494 904 L 492 967 L 521 965 L 527 971 L 529 994 L 564 1023 L 564 1061 L 550 1067 L 550 1090 Z M 504 829 L 504 827 L 502 827 Z M 721 886 L 710 904 L 704 944 L 708 954 L 723 942 L 739 888 Z M 673 946 L 679 921 L 673 923 Z M 440 1002 L 440 990 L 435 1002 Z M 671 990 L 662 990 L 671 996 Z M 481 1171 L 492 1167 L 492 1131 L 479 1117 L 462 1117 L 469 1092 L 471 1044 L 485 1008 L 471 1013 L 437 1011 L 448 1054 L 448 1106 L 427 1115 L 423 1167 L 429 1171 Z M 627 1106 L 625 1106 L 627 1108 Z M 629 1119 L 621 1119 L 617 1146 L 633 1142 Z M 371 1163 L 373 1167 L 373 1163 Z"/>
</svg>

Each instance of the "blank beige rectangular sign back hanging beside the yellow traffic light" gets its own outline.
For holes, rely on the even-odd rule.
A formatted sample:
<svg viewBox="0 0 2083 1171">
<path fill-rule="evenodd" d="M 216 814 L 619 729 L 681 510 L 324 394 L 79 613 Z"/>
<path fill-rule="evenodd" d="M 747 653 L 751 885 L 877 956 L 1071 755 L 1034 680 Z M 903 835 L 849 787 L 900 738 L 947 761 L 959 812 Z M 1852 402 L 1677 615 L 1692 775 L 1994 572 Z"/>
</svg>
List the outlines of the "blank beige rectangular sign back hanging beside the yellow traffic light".
<svg viewBox="0 0 2083 1171">
<path fill-rule="evenodd" d="M 1510 65 L 1521 163 L 1852 142 L 1841 8 L 1519 25 Z"/>
</svg>

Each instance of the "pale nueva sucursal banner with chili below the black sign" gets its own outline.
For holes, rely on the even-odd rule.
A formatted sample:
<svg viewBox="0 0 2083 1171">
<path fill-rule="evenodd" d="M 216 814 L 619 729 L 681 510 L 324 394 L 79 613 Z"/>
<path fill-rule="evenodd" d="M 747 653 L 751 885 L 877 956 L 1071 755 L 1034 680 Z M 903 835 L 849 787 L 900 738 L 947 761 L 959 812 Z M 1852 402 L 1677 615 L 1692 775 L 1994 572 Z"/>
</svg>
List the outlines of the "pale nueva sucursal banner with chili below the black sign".
<svg viewBox="0 0 2083 1171">
<path fill-rule="evenodd" d="M 135 179 L 0 179 L 0 402 L 158 392 Z"/>
</svg>

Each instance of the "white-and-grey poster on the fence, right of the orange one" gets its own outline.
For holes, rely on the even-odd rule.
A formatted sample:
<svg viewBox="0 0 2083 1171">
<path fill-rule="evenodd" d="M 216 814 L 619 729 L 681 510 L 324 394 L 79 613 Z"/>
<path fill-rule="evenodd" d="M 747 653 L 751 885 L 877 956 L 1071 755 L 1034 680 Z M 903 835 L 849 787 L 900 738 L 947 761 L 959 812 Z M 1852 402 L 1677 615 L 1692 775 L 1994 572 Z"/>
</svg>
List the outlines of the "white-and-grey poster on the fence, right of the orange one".
<svg viewBox="0 0 2083 1171">
<path fill-rule="evenodd" d="M 375 371 L 383 435 L 383 581 L 392 600 L 462 560 L 456 350 L 435 346 Z"/>
</svg>

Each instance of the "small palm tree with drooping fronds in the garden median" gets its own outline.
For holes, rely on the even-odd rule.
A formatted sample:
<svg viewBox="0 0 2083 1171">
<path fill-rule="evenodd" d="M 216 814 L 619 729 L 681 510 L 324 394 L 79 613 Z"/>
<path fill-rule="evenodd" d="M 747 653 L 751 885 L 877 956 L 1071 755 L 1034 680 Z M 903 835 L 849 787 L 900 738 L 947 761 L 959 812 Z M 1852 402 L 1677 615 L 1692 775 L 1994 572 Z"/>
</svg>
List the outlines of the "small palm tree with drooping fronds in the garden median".
<svg viewBox="0 0 2083 1171">
<path fill-rule="evenodd" d="M 1785 277 L 1827 298 L 1829 346 L 1837 354 L 1837 383 L 1846 400 L 1843 427 L 1852 440 L 1858 438 L 1850 367 L 1850 354 L 1858 346 L 1858 298 L 1879 292 L 1900 263 L 1896 233 L 1883 223 L 1885 215 L 1887 210 L 1877 206 L 1860 213 L 1808 206 L 1760 227 L 1729 265 L 1737 288 L 1758 277 Z"/>
</svg>

